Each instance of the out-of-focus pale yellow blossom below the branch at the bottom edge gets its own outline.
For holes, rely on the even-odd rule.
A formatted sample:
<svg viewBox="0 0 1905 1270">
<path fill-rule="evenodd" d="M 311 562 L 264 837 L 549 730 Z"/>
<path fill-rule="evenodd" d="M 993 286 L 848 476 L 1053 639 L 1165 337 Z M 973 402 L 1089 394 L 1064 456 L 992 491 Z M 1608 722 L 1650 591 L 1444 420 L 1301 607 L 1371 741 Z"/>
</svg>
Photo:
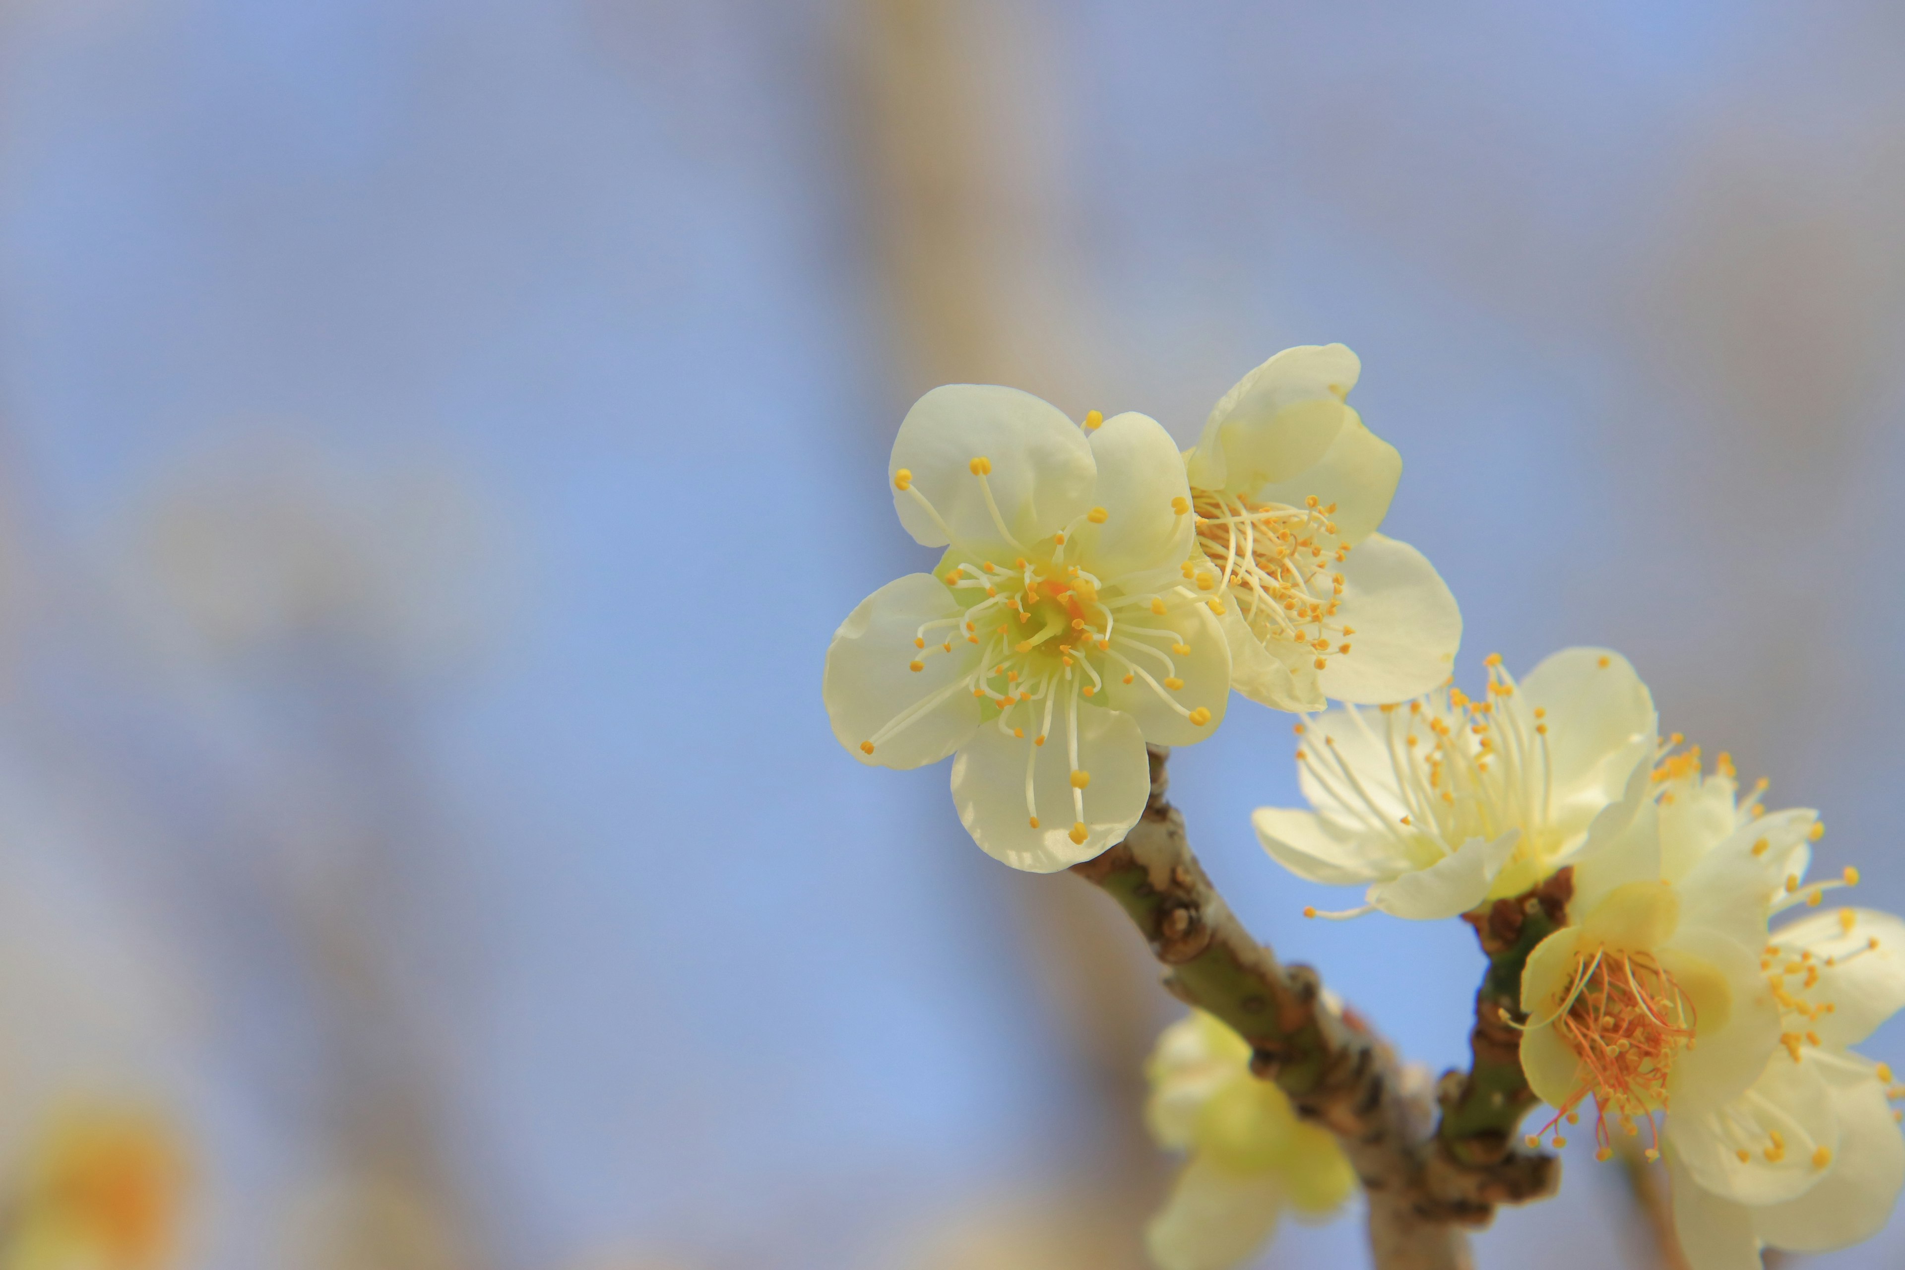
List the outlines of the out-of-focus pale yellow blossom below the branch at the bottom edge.
<svg viewBox="0 0 1905 1270">
<path fill-rule="evenodd" d="M 1145 1230 L 1160 1270 L 1229 1270 L 1269 1243 L 1284 1211 L 1324 1220 L 1354 1192 L 1335 1139 L 1252 1076 L 1250 1045 L 1212 1015 L 1166 1028 L 1145 1076 L 1153 1137 L 1189 1156 Z"/>
</svg>

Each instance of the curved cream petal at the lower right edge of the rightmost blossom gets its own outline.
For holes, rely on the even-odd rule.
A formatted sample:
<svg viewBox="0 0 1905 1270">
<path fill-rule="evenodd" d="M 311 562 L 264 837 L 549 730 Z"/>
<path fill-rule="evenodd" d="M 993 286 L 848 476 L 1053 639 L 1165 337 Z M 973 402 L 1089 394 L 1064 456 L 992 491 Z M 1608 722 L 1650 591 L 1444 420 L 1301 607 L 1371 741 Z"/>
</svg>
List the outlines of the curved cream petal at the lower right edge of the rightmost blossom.
<svg viewBox="0 0 1905 1270">
<path fill-rule="evenodd" d="M 1755 1230 L 1774 1247 L 1825 1253 L 1861 1243 L 1892 1217 L 1905 1186 L 1905 1139 L 1875 1076 L 1835 1081 L 1838 1152 L 1819 1184 L 1798 1200 L 1756 1209 Z"/>
</svg>

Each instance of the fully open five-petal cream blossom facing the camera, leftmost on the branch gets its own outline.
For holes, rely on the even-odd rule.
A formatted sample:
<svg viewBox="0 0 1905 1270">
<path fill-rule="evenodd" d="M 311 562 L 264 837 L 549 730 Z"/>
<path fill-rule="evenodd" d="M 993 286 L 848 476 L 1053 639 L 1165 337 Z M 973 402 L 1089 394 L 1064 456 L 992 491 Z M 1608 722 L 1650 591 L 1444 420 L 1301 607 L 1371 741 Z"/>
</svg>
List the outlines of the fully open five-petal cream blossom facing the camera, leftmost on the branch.
<svg viewBox="0 0 1905 1270">
<path fill-rule="evenodd" d="M 960 821 L 1013 868 L 1099 855 L 1143 815 L 1145 744 L 1202 741 L 1231 687 L 1223 605 L 1179 571 L 1177 447 L 1145 415 L 1080 428 L 1029 392 L 949 385 L 907 411 L 890 478 L 901 526 L 945 554 L 834 632 L 834 737 L 869 765 L 952 754 Z"/>
</svg>

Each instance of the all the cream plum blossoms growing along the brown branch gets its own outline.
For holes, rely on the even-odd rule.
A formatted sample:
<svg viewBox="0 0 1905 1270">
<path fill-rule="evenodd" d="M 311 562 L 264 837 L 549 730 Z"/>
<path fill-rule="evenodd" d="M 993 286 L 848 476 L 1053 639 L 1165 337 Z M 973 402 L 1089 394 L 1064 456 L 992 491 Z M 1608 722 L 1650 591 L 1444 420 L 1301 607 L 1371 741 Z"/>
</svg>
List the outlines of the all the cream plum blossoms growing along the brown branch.
<svg viewBox="0 0 1905 1270">
<path fill-rule="evenodd" d="M 1143 815 L 1147 746 L 1212 735 L 1231 689 L 1301 716 L 1307 809 L 1263 807 L 1293 874 L 1438 920 L 1551 885 L 1566 920 L 1522 971 L 1522 1070 L 1566 1144 L 1665 1158 L 1694 1270 L 1869 1238 L 1905 1186 L 1892 1072 L 1854 1053 L 1905 1005 L 1905 925 L 1821 910 L 1815 813 L 1741 796 L 1728 756 L 1659 739 L 1654 697 L 1608 649 L 1454 687 L 1461 613 L 1377 529 L 1402 461 L 1347 404 L 1341 345 L 1276 354 L 1217 402 L 1193 449 L 1153 419 L 1073 423 L 1000 387 L 928 392 L 893 442 L 901 526 L 941 550 L 888 583 L 827 653 L 834 735 L 869 765 L 952 756 L 973 842 L 1055 872 Z M 1330 703 L 1337 703 L 1330 708 Z M 1800 920 L 1770 929 L 1791 908 Z M 1223 1270 L 1286 1207 L 1354 1186 L 1335 1141 L 1193 1015 L 1153 1057 L 1151 1125 L 1189 1152 L 1151 1226 L 1164 1270 Z"/>
</svg>

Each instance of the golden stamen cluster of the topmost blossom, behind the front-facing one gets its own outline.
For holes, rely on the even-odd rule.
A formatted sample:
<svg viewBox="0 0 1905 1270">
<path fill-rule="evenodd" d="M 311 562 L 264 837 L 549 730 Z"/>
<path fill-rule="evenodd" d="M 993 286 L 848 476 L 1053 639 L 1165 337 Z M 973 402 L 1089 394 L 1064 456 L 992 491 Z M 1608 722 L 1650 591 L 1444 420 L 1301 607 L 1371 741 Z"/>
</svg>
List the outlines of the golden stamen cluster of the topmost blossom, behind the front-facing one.
<svg viewBox="0 0 1905 1270">
<path fill-rule="evenodd" d="M 1334 621 L 1343 575 L 1332 567 L 1349 558 L 1330 520 L 1335 503 L 1318 506 L 1313 495 L 1307 506 L 1288 506 L 1194 489 L 1193 508 L 1204 564 L 1185 566 L 1191 583 L 1229 592 L 1257 640 L 1303 645 L 1318 670 L 1349 653 L 1354 630 Z"/>
</svg>

